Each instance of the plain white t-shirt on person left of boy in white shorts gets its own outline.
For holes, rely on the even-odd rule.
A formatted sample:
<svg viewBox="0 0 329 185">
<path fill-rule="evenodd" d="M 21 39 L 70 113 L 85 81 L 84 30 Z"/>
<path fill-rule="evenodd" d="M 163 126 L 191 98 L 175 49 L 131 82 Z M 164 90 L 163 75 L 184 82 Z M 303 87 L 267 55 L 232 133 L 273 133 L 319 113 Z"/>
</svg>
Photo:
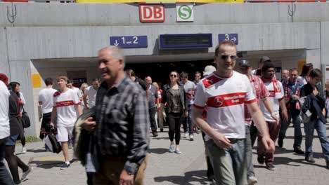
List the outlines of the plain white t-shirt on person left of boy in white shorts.
<svg viewBox="0 0 329 185">
<path fill-rule="evenodd" d="M 56 93 L 56 89 L 44 88 L 39 92 L 39 102 L 42 102 L 42 114 L 53 111 L 53 94 Z"/>
</svg>

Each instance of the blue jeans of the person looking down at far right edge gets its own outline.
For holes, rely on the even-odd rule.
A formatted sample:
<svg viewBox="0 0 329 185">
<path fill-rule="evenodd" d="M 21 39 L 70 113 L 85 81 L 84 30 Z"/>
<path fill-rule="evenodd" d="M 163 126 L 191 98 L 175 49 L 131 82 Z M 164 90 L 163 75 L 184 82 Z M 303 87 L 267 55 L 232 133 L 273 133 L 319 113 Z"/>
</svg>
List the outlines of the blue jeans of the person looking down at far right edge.
<svg viewBox="0 0 329 185">
<path fill-rule="evenodd" d="M 313 156 L 312 146 L 314 129 L 318 132 L 318 139 L 320 139 L 322 152 L 325 160 L 329 160 L 329 142 L 327 138 L 327 128 L 325 123 L 322 123 L 320 119 L 310 121 L 309 123 L 304 123 L 305 130 L 305 156 Z"/>
</svg>

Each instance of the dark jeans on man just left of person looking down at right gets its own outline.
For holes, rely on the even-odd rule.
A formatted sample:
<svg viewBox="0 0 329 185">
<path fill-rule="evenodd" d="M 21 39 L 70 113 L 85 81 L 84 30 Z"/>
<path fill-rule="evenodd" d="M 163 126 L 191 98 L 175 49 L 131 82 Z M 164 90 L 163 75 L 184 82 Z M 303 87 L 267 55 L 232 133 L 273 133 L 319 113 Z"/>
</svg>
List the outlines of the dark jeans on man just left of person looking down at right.
<svg viewBox="0 0 329 185">
<path fill-rule="evenodd" d="M 290 125 L 290 119 L 292 118 L 292 123 L 294 123 L 294 149 L 296 147 L 300 147 L 302 144 L 302 129 L 300 128 L 300 124 L 302 123 L 302 119 L 300 118 L 300 112 L 297 110 L 288 111 L 288 121 L 284 121 L 283 119 L 281 122 L 280 134 L 278 139 L 283 140 L 285 139 L 285 132 Z"/>
</svg>

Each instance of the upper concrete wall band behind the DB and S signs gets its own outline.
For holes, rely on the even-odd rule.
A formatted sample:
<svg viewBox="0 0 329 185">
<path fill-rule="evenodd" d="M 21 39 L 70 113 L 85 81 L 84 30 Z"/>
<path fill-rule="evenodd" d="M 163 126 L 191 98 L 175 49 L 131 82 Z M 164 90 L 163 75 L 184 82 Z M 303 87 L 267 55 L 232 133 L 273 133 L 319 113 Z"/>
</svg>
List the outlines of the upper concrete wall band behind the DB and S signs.
<svg viewBox="0 0 329 185">
<path fill-rule="evenodd" d="M 176 22 L 175 4 L 165 4 L 164 23 L 139 22 L 138 4 L 15 4 L 15 26 L 132 26 L 132 25 L 227 25 L 291 22 L 291 4 L 197 4 L 194 22 Z M 0 3 L 0 26 L 12 26 L 7 6 Z M 293 22 L 329 21 L 329 3 L 296 4 Z M 11 11 L 11 9 L 10 9 Z M 3 16 L 2 16 L 3 15 Z"/>
</svg>

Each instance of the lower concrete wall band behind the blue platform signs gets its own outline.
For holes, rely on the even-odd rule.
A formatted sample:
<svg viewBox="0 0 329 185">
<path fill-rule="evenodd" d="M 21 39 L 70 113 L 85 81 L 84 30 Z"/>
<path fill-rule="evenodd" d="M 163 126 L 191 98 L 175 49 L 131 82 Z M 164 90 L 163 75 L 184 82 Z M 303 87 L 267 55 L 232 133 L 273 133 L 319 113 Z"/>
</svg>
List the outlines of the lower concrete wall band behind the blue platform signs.
<svg viewBox="0 0 329 185">
<path fill-rule="evenodd" d="M 148 48 L 125 50 L 125 55 L 158 55 L 160 34 L 212 33 L 214 47 L 220 33 L 238 33 L 238 50 L 320 48 L 320 23 L 262 25 L 186 25 L 148 27 L 7 27 L 10 60 L 94 57 L 108 46 L 110 36 L 148 35 Z M 199 52 L 214 52 L 214 47 Z M 172 54 L 181 52 L 173 51 Z M 198 51 L 197 51 L 198 52 Z"/>
</svg>

